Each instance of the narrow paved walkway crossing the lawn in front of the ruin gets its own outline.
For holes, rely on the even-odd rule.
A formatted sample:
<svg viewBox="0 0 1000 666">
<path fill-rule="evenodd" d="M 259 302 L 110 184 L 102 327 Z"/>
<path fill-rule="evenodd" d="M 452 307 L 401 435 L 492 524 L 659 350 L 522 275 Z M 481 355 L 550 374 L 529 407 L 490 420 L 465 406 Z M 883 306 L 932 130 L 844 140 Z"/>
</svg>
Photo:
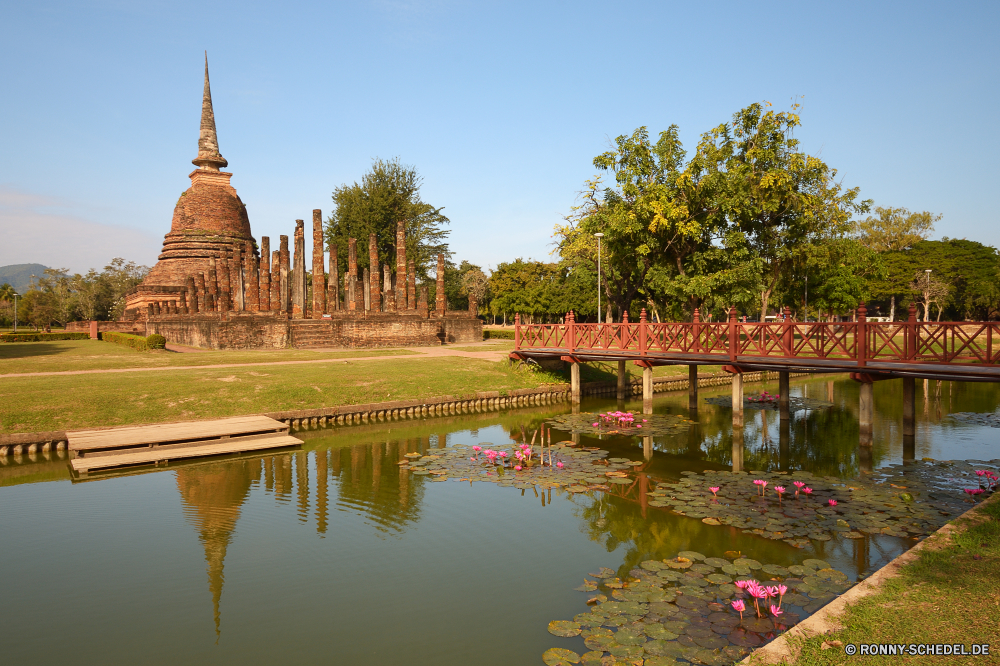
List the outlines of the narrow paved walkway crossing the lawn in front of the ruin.
<svg viewBox="0 0 1000 666">
<path fill-rule="evenodd" d="M 470 342 L 466 344 L 458 344 L 456 347 L 484 347 L 484 351 L 481 352 L 467 352 L 467 351 L 457 351 L 455 349 L 449 349 L 448 347 L 394 347 L 394 349 L 405 349 L 407 351 L 413 352 L 413 354 L 407 354 L 406 356 L 349 356 L 341 358 L 317 358 L 309 359 L 305 361 L 260 361 L 259 363 L 217 363 L 213 365 L 167 365 L 157 368 L 108 368 L 103 370 L 63 370 L 56 372 L 18 372 L 13 374 L 0 374 L 0 379 L 11 378 L 11 377 L 59 377 L 62 375 L 97 375 L 97 374 L 107 374 L 115 372 L 163 372 L 169 370 L 211 370 L 213 368 L 253 368 L 262 365 L 309 365 L 313 363 L 350 363 L 352 361 L 386 361 L 386 360 L 421 360 L 428 358 L 446 358 L 446 357 L 458 357 L 458 358 L 474 358 L 483 361 L 502 361 L 507 358 L 510 353 L 507 349 L 494 349 L 489 351 L 488 348 L 491 346 L 489 342 Z M 180 353 L 187 352 L 201 352 L 207 351 L 204 349 L 197 349 L 194 347 L 183 347 L 180 345 L 168 345 L 167 349 L 169 351 L 176 351 Z M 350 351 L 345 349 L 310 349 L 308 351 L 315 352 L 343 352 Z"/>
</svg>

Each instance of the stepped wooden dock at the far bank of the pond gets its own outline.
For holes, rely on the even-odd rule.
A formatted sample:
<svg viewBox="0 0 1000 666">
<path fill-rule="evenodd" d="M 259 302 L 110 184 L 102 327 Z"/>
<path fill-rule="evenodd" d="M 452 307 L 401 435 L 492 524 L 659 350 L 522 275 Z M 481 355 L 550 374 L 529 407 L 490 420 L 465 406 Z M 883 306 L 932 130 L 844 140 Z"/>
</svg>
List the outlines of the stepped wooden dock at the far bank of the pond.
<svg viewBox="0 0 1000 666">
<path fill-rule="evenodd" d="M 288 426 L 267 416 L 164 423 L 66 433 L 73 472 L 90 472 L 171 460 L 247 453 L 299 446 Z"/>
</svg>

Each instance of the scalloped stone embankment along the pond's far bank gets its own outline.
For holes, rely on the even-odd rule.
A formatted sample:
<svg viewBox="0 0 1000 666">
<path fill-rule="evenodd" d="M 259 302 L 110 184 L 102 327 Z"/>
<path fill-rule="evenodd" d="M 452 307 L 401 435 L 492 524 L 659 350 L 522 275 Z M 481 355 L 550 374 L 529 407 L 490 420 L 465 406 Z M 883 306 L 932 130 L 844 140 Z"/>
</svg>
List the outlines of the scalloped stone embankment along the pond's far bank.
<svg viewBox="0 0 1000 666">
<path fill-rule="evenodd" d="M 776 375 L 777 373 L 748 372 L 743 375 L 743 380 L 748 382 L 762 381 L 767 379 L 763 376 L 767 374 Z M 792 376 L 804 376 L 805 374 L 807 373 L 793 374 Z M 698 386 L 729 384 L 731 377 L 732 375 L 726 372 L 698 375 Z M 654 393 L 686 391 L 687 389 L 688 380 L 686 377 L 657 377 L 653 379 Z M 581 392 L 585 396 L 615 395 L 617 383 L 585 382 L 581 385 Z M 642 381 L 631 382 L 630 385 L 626 386 L 626 393 L 642 395 Z M 566 402 L 569 398 L 569 384 L 547 384 L 533 389 L 516 389 L 505 392 L 481 391 L 464 396 L 445 395 L 435 398 L 395 400 L 364 405 L 270 412 L 265 416 L 287 423 L 295 430 L 306 430 L 333 425 L 356 425 L 380 421 L 421 419 L 446 414 L 490 412 L 530 405 Z M 63 430 L 0 435 L 0 464 L 4 464 L 8 456 L 16 458 L 24 454 L 65 451 L 66 445 L 66 431 Z"/>
</svg>

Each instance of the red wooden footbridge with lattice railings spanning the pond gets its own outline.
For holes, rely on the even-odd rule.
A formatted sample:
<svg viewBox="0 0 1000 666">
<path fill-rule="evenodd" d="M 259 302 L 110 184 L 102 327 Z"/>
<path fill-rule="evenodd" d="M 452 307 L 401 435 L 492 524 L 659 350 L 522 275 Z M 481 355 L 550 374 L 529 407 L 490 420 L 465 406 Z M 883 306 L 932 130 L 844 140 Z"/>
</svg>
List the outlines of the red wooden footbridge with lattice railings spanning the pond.
<svg viewBox="0 0 1000 666">
<path fill-rule="evenodd" d="M 515 359 L 572 363 L 635 361 L 637 365 L 723 365 L 730 372 L 850 372 L 859 381 L 923 377 L 1000 381 L 1000 322 L 869 322 L 862 305 L 852 322 L 791 320 L 743 323 L 736 309 L 723 322 L 521 324 L 515 318 Z"/>
</svg>

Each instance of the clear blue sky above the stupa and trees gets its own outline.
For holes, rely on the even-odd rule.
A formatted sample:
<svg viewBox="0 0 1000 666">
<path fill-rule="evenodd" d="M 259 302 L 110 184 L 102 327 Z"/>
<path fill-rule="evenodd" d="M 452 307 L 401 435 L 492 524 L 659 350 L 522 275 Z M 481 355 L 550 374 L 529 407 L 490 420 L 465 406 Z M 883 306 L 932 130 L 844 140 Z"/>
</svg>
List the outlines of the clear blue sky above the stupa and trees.
<svg viewBox="0 0 1000 666">
<path fill-rule="evenodd" d="M 1000 3 L 6 2 L 0 265 L 156 260 L 194 168 L 202 52 L 256 237 L 374 157 L 424 177 L 456 259 L 545 259 L 614 137 L 689 150 L 804 96 L 803 148 L 879 205 L 1000 245 Z"/>
</svg>

